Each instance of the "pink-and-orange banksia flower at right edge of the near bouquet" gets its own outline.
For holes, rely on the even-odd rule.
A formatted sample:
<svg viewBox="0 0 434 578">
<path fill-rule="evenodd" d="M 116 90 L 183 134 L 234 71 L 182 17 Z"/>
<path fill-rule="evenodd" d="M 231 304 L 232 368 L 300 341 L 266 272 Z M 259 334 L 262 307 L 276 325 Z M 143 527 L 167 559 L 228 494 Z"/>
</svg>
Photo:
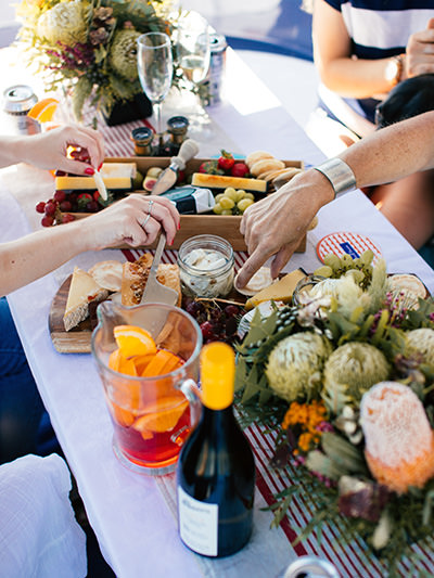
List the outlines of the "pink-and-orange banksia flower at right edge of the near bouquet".
<svg viewBox="0 0 434 578">
<path fill-rule="evenodd" d="M 376 384 L 360 404 L 365 455 L 373 477 L 397 493 L 434 476 L 434 432 L 417 395 L 395 382 Z"/>
</svg>

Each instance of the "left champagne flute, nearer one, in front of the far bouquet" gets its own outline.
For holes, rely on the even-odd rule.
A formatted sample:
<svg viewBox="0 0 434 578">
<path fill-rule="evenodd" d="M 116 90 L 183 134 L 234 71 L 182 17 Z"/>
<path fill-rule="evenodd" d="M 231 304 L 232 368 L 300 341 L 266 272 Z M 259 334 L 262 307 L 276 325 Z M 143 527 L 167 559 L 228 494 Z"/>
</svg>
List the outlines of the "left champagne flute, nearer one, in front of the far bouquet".
<svg viewBox="0 0 434 578">
<path fill-rule="evenodd" d="M 171 86 L 174 63 L 167 34 L 146 33 L 137 39 L 137 67 L 142 89 L 152 102 L 158 145 L 163 146 L 162 103 Z"/>
</svg>

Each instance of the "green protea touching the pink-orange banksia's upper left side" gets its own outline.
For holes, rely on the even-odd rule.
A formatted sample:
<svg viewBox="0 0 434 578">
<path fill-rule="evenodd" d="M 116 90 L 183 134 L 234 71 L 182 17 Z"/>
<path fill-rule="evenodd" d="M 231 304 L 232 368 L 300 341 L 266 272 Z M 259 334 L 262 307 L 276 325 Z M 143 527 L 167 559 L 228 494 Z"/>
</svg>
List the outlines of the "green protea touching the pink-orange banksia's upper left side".
<svg viewBox="0 0 434 578">
<path fill-rule="evenodd" d="M 372 385 L 387 380 L 388 374 L 390 364 L 376 347 L 358 342 L 341 345 L 324 365 L 326 404 L 339 414 L 346 403 L 359 400 Z"/>
</svg>

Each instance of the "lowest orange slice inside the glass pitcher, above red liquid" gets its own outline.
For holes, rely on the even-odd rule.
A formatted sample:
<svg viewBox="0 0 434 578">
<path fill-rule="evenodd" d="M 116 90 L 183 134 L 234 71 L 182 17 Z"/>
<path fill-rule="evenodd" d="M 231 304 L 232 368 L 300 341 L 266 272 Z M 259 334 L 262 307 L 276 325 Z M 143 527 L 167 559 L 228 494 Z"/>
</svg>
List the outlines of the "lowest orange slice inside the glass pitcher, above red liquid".
<svg viewBox="0 0 434 578">
<path fill-rule="evenodd" d="M 148 413 L 141 415 L 132 424 L 139 432 L 154 432 L 162 434 L 170 432 L 186 411 L 189 402 L 178 396 L 163 397 L 153 406 L 148 406 Z"/>
</svg>

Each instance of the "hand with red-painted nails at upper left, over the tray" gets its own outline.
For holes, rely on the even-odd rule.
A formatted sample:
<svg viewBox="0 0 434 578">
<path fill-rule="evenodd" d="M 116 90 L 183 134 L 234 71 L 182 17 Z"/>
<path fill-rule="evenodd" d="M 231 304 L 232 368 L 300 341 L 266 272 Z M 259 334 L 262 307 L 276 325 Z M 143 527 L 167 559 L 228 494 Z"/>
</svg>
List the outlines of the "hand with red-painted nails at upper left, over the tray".
<svg viewBox="0 0 434 578">
<path fill-rule="evenodd" d="M 90 156 L 90 164 L 98 168 L 104 160 L 104 142 L 99 132 L 87 127 L 65 125 L 25 137 L 20 141 L 21 152 L 17 162 L 23 160 L 43 169 L 61 169 L 74 175 L 89 175 L 88 163 L 67 158 L 68 146 L 86 149 Z"/>
</svg>

